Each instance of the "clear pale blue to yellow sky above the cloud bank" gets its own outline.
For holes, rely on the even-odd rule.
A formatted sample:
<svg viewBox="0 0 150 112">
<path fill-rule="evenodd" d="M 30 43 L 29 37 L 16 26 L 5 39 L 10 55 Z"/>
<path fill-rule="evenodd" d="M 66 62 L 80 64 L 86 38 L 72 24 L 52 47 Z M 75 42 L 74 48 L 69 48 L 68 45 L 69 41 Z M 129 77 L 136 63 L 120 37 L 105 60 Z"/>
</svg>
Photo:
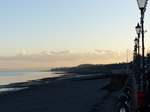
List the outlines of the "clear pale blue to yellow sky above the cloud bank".
<svg viewBox="0 0 150 112">
<path fill-rule="evenodd" d="M 44 51 L 133 50 L 136 0 L 1 0 L 0 56 Z M 150 6 L 145 46 L 150 47 Z"/>
</svg>

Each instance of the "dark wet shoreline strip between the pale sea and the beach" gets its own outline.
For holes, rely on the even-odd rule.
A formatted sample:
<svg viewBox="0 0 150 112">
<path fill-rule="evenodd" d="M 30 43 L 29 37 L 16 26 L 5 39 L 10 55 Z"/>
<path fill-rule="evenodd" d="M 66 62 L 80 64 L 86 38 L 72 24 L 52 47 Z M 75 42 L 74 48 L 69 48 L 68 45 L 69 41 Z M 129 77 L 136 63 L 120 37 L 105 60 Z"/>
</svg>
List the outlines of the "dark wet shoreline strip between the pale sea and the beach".
<svg viewBox="0 0 150 112">
<path fill-rule="evenodd" d="M 9 83 L 5 85 L 0 85 L 0 89 L 7 89 L 7 88 L 30 88 L 34 86 L 40 86 L 45 85 L 48 83 L 51 83 L 53 81 L 59 81 L 59 80 L 72 80 L 72 81 L 84 81 L 84 80 L 95 80 L 95 79 L 103 79 L 103 78 L 112 78 L 112 77 L 118 77 L 120 74 L 77 74 L 77 73 L 64 73 L 64 72 L 56 72 L 55 74 L 61 74 L 58 77 L 46 77 L 46 78 L 40 78 L 35 80 L 28 80 L 25 82 L 15 82 L 15 83 Z M 123 74 L 123 76 L 125 76 Z M 107 88 L 107 87 L 103 87 Z M 107 88 L 108 89 L 108 88 Z"/>
</svg>

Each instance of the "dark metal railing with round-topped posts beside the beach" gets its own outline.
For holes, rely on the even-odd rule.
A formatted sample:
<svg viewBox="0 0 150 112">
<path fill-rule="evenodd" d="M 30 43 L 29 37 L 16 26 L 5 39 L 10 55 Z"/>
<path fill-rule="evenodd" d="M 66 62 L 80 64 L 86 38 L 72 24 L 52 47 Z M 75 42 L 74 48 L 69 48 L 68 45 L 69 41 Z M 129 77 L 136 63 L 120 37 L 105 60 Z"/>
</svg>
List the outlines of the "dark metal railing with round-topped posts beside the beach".
<svg viewBox="0 0 150 112">
<path fill-rule="evenodd" d="M 122 88 L 122 93 L 118 96 L 117 112 L 137 112 L 136 92 L 137 81 L 134 73 L 131 72 Z"/>
</svg>

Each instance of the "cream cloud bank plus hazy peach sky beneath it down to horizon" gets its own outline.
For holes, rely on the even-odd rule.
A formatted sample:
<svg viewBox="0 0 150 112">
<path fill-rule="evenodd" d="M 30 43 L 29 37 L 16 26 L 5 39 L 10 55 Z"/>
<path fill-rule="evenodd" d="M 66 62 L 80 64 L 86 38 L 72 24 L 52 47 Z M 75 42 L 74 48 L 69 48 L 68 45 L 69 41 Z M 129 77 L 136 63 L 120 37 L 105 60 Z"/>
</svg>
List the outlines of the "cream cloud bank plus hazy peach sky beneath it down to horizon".
<svg viewBox="0 0 150 112">
<path fill-rule="evenodd" d="M 129 61 L 132 52 L 128 51 Z M 127 52 L 117 52 L 113 50 L 96 49 L 91 52 L 65 51 L 45 51 L 28 54 L 22 50 L 16 56 L 0 56 L 0 70 L 43 70 L 53 67 L 77 66 L 79 64 L 108 64 L 126 62 Z"/>
</svg>

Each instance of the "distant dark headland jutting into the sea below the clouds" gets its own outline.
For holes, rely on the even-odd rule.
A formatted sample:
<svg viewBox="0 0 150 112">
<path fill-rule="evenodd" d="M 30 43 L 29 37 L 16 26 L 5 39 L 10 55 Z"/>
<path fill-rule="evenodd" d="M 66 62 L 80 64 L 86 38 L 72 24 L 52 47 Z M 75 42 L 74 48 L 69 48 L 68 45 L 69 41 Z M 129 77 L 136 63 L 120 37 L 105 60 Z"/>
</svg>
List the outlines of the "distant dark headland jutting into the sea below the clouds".
<svg viewBox="0 0 150 112">
<path fill-rule="evenodd" d="M 93 64 L 81 64 L 76 67 L 60 67 L 52 68 L 51 71 L 63 71 L 67 73 L 77 74 L 111 74 L 114 70 L 126 70 L 127 63 L 119 64 L 107 64 L 107 65 L 93 65 Z"/>
</svg>

